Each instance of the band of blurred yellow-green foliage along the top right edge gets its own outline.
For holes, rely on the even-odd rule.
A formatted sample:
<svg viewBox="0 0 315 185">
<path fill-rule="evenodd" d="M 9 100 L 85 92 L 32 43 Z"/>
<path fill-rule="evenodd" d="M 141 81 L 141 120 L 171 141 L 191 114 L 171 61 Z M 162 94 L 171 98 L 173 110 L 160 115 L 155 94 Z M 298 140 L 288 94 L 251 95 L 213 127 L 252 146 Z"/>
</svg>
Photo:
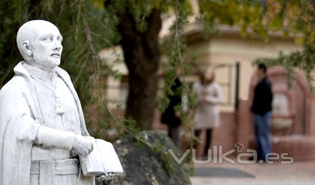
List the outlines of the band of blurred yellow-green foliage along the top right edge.
<svg viewBox="0 0 315 185">
<path fill-rule="evenodd" d="M 279 31 L 283 36 L 294 36 L 298 43 L 313 43 L 315 39 L 315 2 L 311 0 L 201 0 L 199 7 L 200 21 L 208 31 L 227 24 L 239 25 L 243 36 L 265 42 Z"/>
</svg>

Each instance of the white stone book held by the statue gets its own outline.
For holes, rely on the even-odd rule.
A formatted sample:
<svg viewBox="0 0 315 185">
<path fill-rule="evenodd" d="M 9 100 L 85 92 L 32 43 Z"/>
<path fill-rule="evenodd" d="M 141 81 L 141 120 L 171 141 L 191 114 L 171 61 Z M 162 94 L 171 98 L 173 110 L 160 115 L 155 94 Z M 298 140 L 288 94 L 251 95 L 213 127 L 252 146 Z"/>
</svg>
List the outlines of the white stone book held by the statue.
<svg viewBox="0 0 315 185">
<path fill-rule="evenodd" d="M 99 176 L 105 173 L 122 175 L 123 167 L 110 142 L 92 139 L 93 151 L 80 157 L 82 172 L 85 176 Z"/>
</svg>

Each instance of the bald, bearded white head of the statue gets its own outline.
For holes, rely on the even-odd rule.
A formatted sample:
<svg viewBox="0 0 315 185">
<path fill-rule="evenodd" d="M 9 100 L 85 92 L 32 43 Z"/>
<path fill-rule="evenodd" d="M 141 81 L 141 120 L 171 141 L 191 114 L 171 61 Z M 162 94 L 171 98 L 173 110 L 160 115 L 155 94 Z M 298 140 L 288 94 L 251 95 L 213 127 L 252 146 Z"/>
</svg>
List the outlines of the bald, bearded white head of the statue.
<svg viewBox="0 0 315 185">
<path fill-rule="evenodd" d="M 18 29 L 16 36 L 17 47 L 24 60 L 47 70 L 60 64 L 62 40 L 58 28 L 43 20 L 25 23 Z"/>
</svg>

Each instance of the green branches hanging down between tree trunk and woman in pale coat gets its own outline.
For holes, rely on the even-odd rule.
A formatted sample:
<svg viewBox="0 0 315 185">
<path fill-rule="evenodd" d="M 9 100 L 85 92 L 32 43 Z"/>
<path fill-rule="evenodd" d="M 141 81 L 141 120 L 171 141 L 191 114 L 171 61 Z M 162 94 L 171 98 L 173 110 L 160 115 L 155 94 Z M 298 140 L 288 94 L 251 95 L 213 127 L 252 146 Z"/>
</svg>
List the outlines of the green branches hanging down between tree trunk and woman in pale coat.
<svg viewBox="0 0 315 185">
<path fill-rule="evenodd" d="M 161 50 L 167 58 L 167 62 L 163 63 L 164 85 L 162 87 L 163 95 L 156 99 L 156 105 L 160 112 L 164 112 L 167 108 L 169 96 L 174 94 L 186 97 L 186 102 L 183 101 L 174 109 L 181 113 L 182 126 L 186 127 L 184 136 L 193 136 L 193 122 L 192 115 L 188 110 L 195 105 L 196 96 L 191 91 L 190 86 L 184 78 L 181 78 L 182 86 L 173 91 L 171 87 L 175 84 L 175 79 L 182 76 L 190 75 L 192 70 L 192 61 L 185 57 L 187 46 L 185 44 L 185 37 L 183 35 L 184 26 L 188 23 L 188 18 L 193 14 L 192 9 L 188 6 L 187 1 L 173 1 L 173 14 L 175 20 L 170 27 L 170 34 L 166 36 L 161 45 Z M 191 139 L 190 147 L 193 146 Z M 191 162 L 191 160 L 189 160 Z M 192 167 L 192 163 L 190 163 Z"/>
</svg>

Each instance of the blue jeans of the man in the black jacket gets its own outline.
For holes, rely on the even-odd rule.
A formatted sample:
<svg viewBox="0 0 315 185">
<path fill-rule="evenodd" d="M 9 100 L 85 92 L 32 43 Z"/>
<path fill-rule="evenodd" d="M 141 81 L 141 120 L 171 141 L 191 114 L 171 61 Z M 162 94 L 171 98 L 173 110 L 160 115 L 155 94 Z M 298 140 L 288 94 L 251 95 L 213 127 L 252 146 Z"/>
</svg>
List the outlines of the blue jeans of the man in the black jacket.
<svg viewBox="0 0 315 185">
<path fill-rule="evenodd" d="M 264 115 L 254 114 L 254 131 L 257 143 L 257 159 L 265 160 L 266 154 L 271 152 L 269 123 L 271 111 Z"/>
</svg>

